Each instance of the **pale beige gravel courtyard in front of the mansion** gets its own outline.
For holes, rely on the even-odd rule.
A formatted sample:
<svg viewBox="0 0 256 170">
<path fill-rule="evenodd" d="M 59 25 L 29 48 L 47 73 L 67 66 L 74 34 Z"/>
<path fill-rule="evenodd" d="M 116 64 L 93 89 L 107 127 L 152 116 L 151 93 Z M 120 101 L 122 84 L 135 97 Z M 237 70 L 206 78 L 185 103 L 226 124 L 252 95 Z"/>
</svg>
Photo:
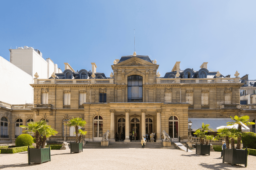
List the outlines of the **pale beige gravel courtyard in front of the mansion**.
<svg viewBox="0 0 256 170">
<path fill-rule="evenodd" d="M 0 169 L 19 170 L 74 170 L 74 169 L 237 169 L 222 163 L 220 152 L 198 155 L 175 149 L 84 149 L 70 154 L 68 150 L 52 150 L 52 161 L 28 165 L 27 151 L 16 154 L 0 154 Z M 255 169 L 256 156 L 248 155 L 246 169 Z"/>
</svg>

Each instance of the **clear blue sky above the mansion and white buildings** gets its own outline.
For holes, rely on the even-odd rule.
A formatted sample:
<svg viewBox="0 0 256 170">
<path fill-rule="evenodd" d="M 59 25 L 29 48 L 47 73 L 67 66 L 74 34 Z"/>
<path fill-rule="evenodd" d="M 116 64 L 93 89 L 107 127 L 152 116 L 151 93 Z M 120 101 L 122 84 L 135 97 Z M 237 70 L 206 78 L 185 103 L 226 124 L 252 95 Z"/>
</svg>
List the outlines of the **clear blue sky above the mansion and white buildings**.
<svg viewBox="0 0 256 170">
<path fill-rule="evenodd" d="M 256 1 L 2 1 L 0 56 L 10 47 L 34 46 L 64 71 L 91 70 L 107 77 L 115 59 L 148 55 L 161 77 L 180 68 L 256 79 Z"/>
</svg>

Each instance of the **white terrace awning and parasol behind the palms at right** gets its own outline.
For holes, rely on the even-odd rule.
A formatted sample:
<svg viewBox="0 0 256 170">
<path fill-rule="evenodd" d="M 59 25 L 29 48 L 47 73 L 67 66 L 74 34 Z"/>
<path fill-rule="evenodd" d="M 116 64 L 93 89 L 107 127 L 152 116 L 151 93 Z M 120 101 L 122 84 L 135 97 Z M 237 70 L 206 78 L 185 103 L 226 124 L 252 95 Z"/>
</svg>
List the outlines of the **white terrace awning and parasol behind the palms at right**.
<svg viewBox="0 0 256 170">
<path fill-rule="evenodd" d="M 188 121 L 189 120 L 193 122 L 191 126 L 192 131 L 196 131 L 198 128 L 200 128 L 202 126 L 202 123 L 210 124 L 209 128 L 211 128 L 212 131 L 214 132 L 217 132 L 217 130 L 221 127 L 228 127 L 228 128 L 238 127 L 238 125 L 227 126 L 228 122 L 233 121 L 231 118 L 189 118 Z M 242 124 L 242 131 L 250 132 L 250 128 Z"/>
</svg>

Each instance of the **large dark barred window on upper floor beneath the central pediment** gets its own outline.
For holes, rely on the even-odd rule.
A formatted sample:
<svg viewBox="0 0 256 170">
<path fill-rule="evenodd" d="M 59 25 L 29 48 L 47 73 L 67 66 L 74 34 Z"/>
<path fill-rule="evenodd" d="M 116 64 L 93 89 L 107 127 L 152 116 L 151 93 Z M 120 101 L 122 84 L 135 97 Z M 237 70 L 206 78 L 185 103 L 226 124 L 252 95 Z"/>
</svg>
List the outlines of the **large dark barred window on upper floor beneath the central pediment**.
<svg viewBox="0 0 256 170">
<path fill-rule="evenodd" d="M 142 102 L 142 77 L 132 75 L 127 78 L 128 102 Z"/>
</svg>

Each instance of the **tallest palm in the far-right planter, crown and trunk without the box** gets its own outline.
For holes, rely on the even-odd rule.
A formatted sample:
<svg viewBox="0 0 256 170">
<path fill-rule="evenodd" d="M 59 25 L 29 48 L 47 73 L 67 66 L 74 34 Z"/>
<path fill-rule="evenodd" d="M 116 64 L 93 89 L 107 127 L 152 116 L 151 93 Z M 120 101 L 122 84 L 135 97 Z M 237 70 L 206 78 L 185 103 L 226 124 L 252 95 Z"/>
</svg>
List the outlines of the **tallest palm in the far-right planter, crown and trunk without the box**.
<svg viewBox="0 0 256 170">
<path fill-rule="evenodd" d="M 247 115 L 244 115 L 241 117 L 234 116 L 234 118 L 233 117 L 231 117 L 231 118 L 233 119 L 233 122 L 228 122 L 227 125 L 231 126 L 231 125 L 237 124 L 238 125 L 237 129 L 239 129 L 241 132 L 242 132 L 242 124 L 245 124 L 246 126 L 255 124 L 254 122 L 250 122 L 250 117 Z M 241 135 L 238 135 L 236 148 L 240 149 L 240 146 L 241 146 Z"/>
</svg>

